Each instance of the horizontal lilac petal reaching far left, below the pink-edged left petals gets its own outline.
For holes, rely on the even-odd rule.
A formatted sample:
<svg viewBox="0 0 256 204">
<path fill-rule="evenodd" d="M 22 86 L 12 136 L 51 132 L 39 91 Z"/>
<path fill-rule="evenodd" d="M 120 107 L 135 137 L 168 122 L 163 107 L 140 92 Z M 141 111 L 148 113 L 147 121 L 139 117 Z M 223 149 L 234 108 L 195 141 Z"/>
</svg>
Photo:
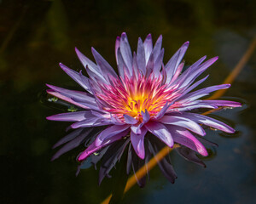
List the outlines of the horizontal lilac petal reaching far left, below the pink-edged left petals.
<svg viewBox="0 0 256 204">
<path fill-rule="evenodd" d="M 91 116 L 93 115 L 90 111 L 77 111 L 48 116 L 46 119 L 49 121 L 78 122 L 90 118 Z"/>
</svg>

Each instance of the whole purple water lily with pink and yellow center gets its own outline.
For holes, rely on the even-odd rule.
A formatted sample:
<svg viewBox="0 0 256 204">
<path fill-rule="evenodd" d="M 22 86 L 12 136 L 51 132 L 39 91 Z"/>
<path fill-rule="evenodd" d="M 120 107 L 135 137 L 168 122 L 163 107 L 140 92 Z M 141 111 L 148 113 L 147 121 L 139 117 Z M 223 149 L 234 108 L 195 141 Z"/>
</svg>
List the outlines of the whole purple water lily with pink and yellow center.
<svg viewBox="0 0 256 204">
<path fill-rule="evenodd" d="M 59 153 L 57 152 L 54 159 L 81 143 L 90 145 L 78 156 L 79 161 L 84 161 L 99 150 L 114 149 L 114 144 L 120 143 L 118 150 L 115 150 L 119 152 L 119 155 L 114 157 L 115 160 L 119 159 L 129 144 L 129 149 L 133 149 L 129 151 L 135 152 L 140 159 L 146 161 L 147 151 L 154 154 L 160 149 L 156 147 L 159 139 L 169 147 L 175 143 L 182 144 L 183 148 L 187 147 L 186 150 L 194 150 L 201 156 L 207 156 L 207 150 L 201 144 L 201 136 L 206 134 L 201 124 L 226 133 L 235 132 L 224 122 L 195 113 L 199 109 L 241 106 L 234 101 L 201 99 L 213 91 L 230 88 L 230 84 L 194 91 L 208 76 L 195 82 L 196 78 L 218 57 L 204 61 L 204 56 L 182 72 L 182 59 L 189 42 L 185 42 L 166 65 L 163 64 L 164 48 L 161 48 L 161 43 L 160 36 L 153 46 L 149 34 L 144 42 L 141 38 L 138 39 L 137 53 L 132 54 L 128 38 L 122 33 L 115 43 L 119 75 L 94 48 L 91 51 L 96 63 L 86 58 L 76 48 L 76 53 L 89 77 L 84 77 L 82 71 L 76 72 L 60 64 L 61 69 L 86 92 L 47 84 L 50 88 L 47 91 L 49 94 L 80 109 L 47 117 L 52 121 L 74 122 L 71 127 L 77 129 L 55 144 L 58 146 L 68 142 Z M 105 127 L 102 131 L 97 131 L 97 128 L 96 131 L 85 128 L 102 126 Z M 147 139 L 148 133 L 158 139 L 154 139 L 154 143 L 150 142 Z M 181 154 L 184 156 L 184 151 Z M 133 165 L 133 162 L 129 162 L 128 155 L 127 169 L 129 165 Z M 103 174 L 107 175 L 110 171 L 108 170 Z"/>
</svg>

